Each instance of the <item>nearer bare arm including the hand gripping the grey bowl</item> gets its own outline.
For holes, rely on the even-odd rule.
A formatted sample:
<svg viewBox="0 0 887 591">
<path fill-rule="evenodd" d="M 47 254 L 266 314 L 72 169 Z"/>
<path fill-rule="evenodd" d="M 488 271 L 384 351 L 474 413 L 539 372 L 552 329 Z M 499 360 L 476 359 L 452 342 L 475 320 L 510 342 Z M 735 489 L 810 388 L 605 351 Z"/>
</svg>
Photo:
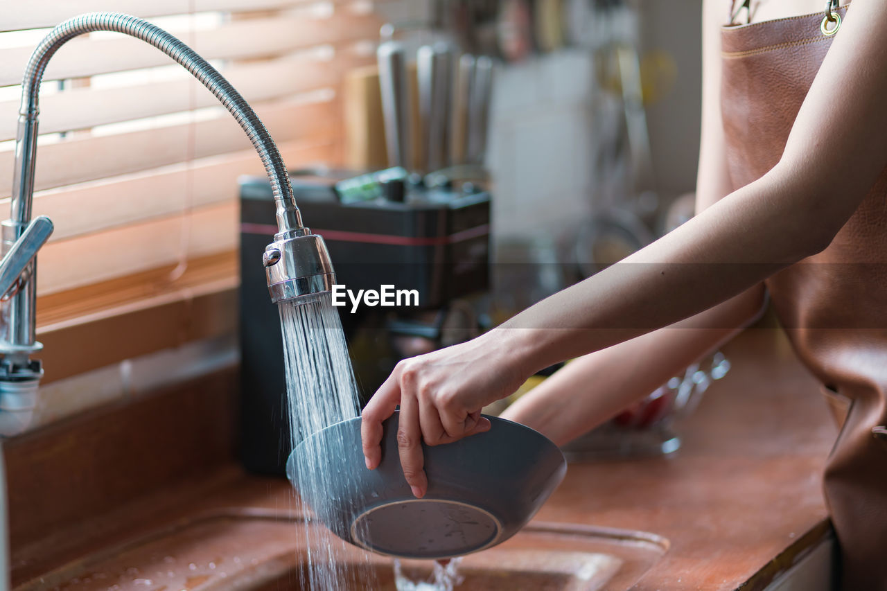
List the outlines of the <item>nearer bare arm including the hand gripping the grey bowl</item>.
<svg viewBox="0 0 887 591">
<path fill-rule="evenodd" d="M 481 407 L 538 369 L 686 319 L 828 246 L 887 163 L 885 26 L 887 3 L 854 0 L 765 177 L 502 327 L 398 364 L 364 411 L 367 466 L 378 465 L 381 422 L 399 403 L 404 477 L 421 496 L 421 442 L 489 429 Z"/>
</svg>

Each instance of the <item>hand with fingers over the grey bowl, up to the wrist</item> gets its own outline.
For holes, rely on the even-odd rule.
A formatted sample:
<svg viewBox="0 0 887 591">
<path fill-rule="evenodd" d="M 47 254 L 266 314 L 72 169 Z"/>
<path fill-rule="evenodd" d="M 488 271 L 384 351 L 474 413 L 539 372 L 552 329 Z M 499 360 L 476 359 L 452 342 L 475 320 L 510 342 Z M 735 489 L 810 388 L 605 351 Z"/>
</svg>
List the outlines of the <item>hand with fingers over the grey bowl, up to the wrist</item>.
<svg viewBox="0 0 887 591">
<path fill-rule="evenodd" d="M 428 479 L 422 443 L 451 443 L 490 429 L 481 408 L 512 394 L 537 369 L 522 362 L 517 339 L 511 338 L 518 332 L 493 330 L 398 363 L 362 414 L 366 467 L 379 466 L 382 422 L 399 404 L 397 449 L 404 477 L 413 494 L 424 496 Z"/>
</svg>

